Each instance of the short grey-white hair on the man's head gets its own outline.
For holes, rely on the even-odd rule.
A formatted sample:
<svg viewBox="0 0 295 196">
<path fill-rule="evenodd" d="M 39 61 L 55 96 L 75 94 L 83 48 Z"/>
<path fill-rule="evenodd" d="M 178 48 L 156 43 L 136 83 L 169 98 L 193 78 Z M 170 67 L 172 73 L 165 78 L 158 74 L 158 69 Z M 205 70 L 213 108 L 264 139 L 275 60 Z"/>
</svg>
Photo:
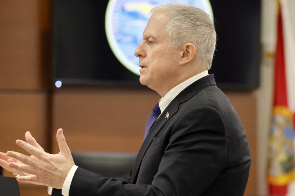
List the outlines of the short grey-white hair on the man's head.
<svg viewBox="0 0 295 196">
<path fill-rule="evenodd" d="M 151 14 L 156 12 L 164 13 L 171 19 L 166 28 L 171 47 L 194 44 L 197 49 L 195 60 L 209 70 L 216 43 L 216 32 L 210 16 L 202 9 L 179 3 L 159 5 L 150 11 Z"/>
</svg>

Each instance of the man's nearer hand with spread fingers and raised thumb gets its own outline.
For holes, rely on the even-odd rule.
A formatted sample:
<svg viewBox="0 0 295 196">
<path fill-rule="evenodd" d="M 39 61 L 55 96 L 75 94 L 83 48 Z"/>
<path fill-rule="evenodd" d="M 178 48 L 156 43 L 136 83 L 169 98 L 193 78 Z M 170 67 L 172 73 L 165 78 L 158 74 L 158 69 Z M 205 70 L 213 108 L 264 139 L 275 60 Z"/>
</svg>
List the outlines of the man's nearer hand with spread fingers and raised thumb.
<svg viewBox="0 0 295 196">
<path fill-rule="evenodd" d="M 57 130 L 57 143 L 60 152 L 58 154 L 45 153 L 41 149 L 22 141 L 17 140 L 16 144 L 25 149 L 32 156 L 8 151 L 7 156 L 13 157 L 24 163 L 11 162 L 10 168 L 27 173 L 28 175 L 17 178 L 18 182 L 43 184 L 53 188 L 61 189 L 70 169 L 74 165 L 71 151 L 65 141 L 62 129 Z"/>
</svg>

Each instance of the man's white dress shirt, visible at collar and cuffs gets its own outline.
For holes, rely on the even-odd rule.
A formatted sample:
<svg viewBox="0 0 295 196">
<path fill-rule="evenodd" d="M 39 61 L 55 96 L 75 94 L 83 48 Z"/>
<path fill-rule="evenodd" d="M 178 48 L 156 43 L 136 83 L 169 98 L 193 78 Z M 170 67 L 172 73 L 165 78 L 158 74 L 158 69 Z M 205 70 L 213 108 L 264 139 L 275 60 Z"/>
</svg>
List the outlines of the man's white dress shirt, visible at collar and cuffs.
<svg viewBox="0 0 295 196">
<path fill-rule="evenodd" d="M 166 107 L 170 104 L 170 102 L 181 92 L 183 91 L 185 88 L 187 88 L 189 85 L 191 85 L 192 83 L 194 83 L 195 81 L 199 80 L 202 77 L 205 77 L 209 75 L 208 74 L 208 70 L 205 70 L 189 79 L 187 79 L 186 81 L 180 83 L 179 85 L 175 86 L 173 89 L 171 89 L 170 91 L 168 91 L 166 93 L 166 95 L 164 97 L 162 97 L 159 100 L 159 107 L 161 110 L 161 114 L 162 112 L 166 109 Z M 74 174 L 77 170 L 78 166 L 74 165 L 71 170 L 69 171 L 69 174 L 67 175 L 65 182 L 62 186 L 62 190 L 61 190 L 61 194 L 64 196 L 69 196 L 69 190 L 70 190 L 70 186 L 74 177 Z M 48 194 L 51 195 L 52 194 L 52 187 L 48 187 Z"/>
</svg>

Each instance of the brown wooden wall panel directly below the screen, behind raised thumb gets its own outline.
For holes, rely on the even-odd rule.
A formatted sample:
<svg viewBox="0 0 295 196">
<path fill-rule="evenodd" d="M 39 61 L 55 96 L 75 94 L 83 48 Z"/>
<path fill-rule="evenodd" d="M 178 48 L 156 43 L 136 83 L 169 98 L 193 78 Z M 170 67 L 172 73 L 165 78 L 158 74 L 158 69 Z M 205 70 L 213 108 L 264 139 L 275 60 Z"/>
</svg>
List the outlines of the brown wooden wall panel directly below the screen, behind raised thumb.
<svg viewBox="0 0 295 196">
<path fill-rule="evenodd" d="M 71 150 L 138 152 L 145 124 L 160 96 L 150 89 L 94 88 L 53 94 L 53 152 L 63 128 Z"/>
</svg>

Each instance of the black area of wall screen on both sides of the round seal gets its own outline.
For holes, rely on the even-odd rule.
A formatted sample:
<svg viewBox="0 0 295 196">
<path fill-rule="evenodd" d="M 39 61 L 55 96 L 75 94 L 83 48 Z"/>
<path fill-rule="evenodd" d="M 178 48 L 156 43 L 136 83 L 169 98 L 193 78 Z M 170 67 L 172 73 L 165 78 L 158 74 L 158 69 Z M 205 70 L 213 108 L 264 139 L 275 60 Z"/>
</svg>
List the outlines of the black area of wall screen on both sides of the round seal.
<svg viewBox="0 0 295 196">
<path fill-rule="evenodd" d="M 209 73 L 222 89 L 259 86 L 260 9 L 257 0 L 211 0 L 217 46 Z M 108 0 L 59 0 L 53 12 L 53 82 L 139 86 L 139 76 L 112 53 L 105 35 Z"/>
</svg>

